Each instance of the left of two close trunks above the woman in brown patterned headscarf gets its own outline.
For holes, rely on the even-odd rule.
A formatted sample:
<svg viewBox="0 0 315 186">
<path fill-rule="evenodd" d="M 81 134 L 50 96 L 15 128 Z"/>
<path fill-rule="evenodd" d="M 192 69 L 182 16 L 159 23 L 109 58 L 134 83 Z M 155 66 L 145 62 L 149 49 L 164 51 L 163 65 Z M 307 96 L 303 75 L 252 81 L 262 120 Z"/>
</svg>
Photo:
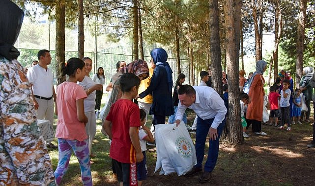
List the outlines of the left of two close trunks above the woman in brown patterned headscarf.
<svg viewBox="0 0 315 186">
<path fill-rule="evenodd" d="M 133 60 L 139 59 L 139 22 L 138 22 L 138 0 L 133 0 L 134 7 L 133 9 L 133 21 L 134 21 L 134 28 L 133 28 L 133 40 L 134 40 L 134 48 L 133 48 Z"/>
</svg>

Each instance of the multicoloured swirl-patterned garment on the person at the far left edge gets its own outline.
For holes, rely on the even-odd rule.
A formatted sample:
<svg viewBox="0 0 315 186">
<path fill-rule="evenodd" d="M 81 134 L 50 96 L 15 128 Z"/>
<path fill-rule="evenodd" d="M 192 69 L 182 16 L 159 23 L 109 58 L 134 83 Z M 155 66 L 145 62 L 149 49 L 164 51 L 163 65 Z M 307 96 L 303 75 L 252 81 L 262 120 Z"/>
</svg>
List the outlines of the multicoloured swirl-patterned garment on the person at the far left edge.
<svg viewBox="0 0 315 186">
<path fill-rule="evenodd" d="M 23 67 L 0 55 L 0 185 L 55 186 Z"/>
</svg>

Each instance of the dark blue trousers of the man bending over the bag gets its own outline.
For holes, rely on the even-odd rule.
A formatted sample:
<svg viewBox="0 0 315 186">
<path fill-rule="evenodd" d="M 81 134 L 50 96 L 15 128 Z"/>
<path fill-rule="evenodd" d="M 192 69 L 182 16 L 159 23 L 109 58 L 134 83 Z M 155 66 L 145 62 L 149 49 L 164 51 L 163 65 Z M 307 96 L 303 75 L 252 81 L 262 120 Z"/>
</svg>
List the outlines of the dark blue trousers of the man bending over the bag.
<svg viewBox="0 0 315 186">
<path fill-rule="evenodd" d="M 197 120 L 197 132 L 196 132 L 196 155 L 197 155 L 197 164 L 195 165 L 197 168 L 202 167 L 202 160 L 204 156 L 204 146 L 205 140 L 209 133 L 209 128 L 212 125 L 214 118 L 212 119 L 201 119 L 198 117 Z M 222 121 L 222 123 L 217 128 L 218 138 L 216 140 L 209 139 L 209 150 L 208 150 L 208 159 L 204 164 L 204 171 L 212 172 L 217 163 L 218 155 L 219 155 L 219 140 L 222 133 L 222 130 L 225 126 L 226 119 Z"/>
</svg>

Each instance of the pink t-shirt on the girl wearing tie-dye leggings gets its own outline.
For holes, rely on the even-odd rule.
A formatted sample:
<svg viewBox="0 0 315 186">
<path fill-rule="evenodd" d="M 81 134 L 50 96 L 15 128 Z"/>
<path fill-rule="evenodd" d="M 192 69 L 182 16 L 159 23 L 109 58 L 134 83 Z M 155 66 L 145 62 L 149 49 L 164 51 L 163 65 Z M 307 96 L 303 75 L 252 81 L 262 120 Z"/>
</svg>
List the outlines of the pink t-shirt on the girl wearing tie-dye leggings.
<svg viewBox="0 0 315 186">
<path fill-rule="evenodd" d="M 76 83 L 63 82 L 58 85 L 56 138 L 79 141 L 87 139 L 85 125 L 78 120 L 77 115 L 77 100 L 86 97 L 84 89 Z"/>
</svg>

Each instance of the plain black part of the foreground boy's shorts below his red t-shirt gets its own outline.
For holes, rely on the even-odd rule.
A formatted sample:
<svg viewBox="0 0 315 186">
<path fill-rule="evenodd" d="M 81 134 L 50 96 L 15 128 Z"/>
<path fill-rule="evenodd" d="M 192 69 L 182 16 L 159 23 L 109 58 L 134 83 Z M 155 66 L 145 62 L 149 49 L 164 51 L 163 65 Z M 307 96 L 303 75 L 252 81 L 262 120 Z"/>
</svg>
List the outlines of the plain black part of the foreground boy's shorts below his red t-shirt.
<svg viewBox="0 0 315 186">
<path fill-rule="evenodd" d="M 130 163 L 121 163 L 113 159 L 118 182 L 128 184 L 130 182 Z"/>
</svg>

